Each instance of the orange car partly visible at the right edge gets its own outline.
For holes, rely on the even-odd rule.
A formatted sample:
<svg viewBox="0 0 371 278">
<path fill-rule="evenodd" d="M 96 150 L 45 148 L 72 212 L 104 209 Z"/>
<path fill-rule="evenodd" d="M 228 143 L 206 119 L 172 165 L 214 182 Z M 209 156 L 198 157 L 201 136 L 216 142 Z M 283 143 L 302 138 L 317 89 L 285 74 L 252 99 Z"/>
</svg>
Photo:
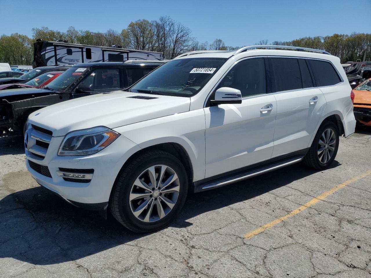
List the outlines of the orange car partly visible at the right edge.
<svg viewBox="0 0 371 278">
<path fill-rule="evenodd" d="M 355 87 L 352 93 L 355 119 L 358 123 L 371 126 L 371 78 Z"/>
</svg>

